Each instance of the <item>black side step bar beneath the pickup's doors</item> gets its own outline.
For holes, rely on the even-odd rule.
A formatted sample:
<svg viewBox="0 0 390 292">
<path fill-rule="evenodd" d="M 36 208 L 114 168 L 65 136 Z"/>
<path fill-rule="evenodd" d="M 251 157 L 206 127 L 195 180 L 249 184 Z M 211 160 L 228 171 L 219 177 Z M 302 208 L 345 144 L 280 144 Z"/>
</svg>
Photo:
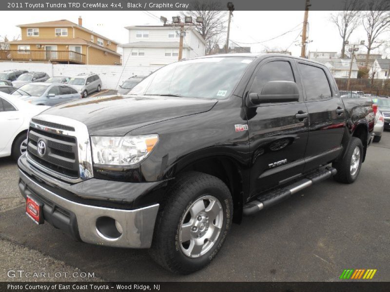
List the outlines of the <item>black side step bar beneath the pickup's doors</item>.
<svg viewBox="0 0 390 292">
<path fill-rule="evenodd" d="M 257 197 L 254 201 L 250 201 L 245 204 L 243 207 L 243 215 L 251 216 L 259 212 L 260 210 L 269 208 L 281 201 L 286 200 L 292 194 L 311 186 L 313 183 L 318 183 L 324 181 L 331 176 L 335 175 L 337 170 L 333 167 L 326 167 L 325 169 L 319 170 L 318 172 L 312 173 L 308 175 L 306 178 L 292 183 L 290 185 L 284 186 L 283 188 L 279 188 L 273 190 L 268 194 L 264 194 L 260 197 Z"/>
</svg>

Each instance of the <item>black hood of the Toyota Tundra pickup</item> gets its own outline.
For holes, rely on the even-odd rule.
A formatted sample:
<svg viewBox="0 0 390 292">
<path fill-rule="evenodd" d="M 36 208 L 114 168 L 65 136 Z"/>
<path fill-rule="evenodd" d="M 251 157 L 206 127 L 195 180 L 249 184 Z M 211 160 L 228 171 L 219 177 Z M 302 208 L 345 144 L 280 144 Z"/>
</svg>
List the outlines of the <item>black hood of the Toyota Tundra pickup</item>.
<svg viewBox="0 0 390 292">
<path fill-rule="evenodd" d="M 146 125 L 211 110 L 216 100 L 171 96 L 103 96 L 54 106 L 45 114 L 84 123 L 90 135 L 123 136 Z"/>
</svg>

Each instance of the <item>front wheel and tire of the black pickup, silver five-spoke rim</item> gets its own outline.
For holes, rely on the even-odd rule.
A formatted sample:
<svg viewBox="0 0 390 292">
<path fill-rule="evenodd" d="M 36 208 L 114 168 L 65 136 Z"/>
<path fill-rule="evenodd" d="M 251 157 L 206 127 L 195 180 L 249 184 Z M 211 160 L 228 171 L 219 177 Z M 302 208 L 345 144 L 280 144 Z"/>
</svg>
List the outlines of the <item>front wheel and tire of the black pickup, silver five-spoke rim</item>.
<svg viewBox="0 0 390 292">
<path fill-rule="evenodd" d="M 232 223 L 232 196 L 220 179 L 195 171 L 178 177 L 167 194 L 157 215 L 150 255 L 173 273 L 190 274 L 208 265 L 225 241 Z M 195 242 L 200 244 L 192 248 Z"/>
</svg>

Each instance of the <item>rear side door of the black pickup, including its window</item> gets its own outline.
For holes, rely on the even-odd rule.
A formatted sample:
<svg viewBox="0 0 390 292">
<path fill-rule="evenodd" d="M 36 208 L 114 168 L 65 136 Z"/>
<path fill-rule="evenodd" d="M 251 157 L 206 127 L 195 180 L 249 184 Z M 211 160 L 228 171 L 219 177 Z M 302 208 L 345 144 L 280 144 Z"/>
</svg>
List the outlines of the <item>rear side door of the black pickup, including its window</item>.
<svg viewBox="0 0 390 292">
<path fill-rule="evenodd" d="M 328 164 L 341 151 L 345 128 L 344 104 L 329 71 L 321 65 L 298 61 L 309 112 L 305 171 Z"/>
</svg>

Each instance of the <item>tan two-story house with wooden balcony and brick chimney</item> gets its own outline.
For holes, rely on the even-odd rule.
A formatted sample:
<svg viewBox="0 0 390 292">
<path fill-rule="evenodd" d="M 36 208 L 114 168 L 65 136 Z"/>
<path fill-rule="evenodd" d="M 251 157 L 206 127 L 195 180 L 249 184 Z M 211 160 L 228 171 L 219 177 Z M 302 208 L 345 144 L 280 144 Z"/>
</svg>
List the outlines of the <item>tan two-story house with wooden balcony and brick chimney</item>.
<svg viewBox="0 0 390 292">
<path fill-rule="evenodd" d="M 57 62 L 62 64 L 117 65 L 117 42 L 69 20 L 18 25 L 21 39 L 10 42 L 0 60 Z"/>
</svg>

